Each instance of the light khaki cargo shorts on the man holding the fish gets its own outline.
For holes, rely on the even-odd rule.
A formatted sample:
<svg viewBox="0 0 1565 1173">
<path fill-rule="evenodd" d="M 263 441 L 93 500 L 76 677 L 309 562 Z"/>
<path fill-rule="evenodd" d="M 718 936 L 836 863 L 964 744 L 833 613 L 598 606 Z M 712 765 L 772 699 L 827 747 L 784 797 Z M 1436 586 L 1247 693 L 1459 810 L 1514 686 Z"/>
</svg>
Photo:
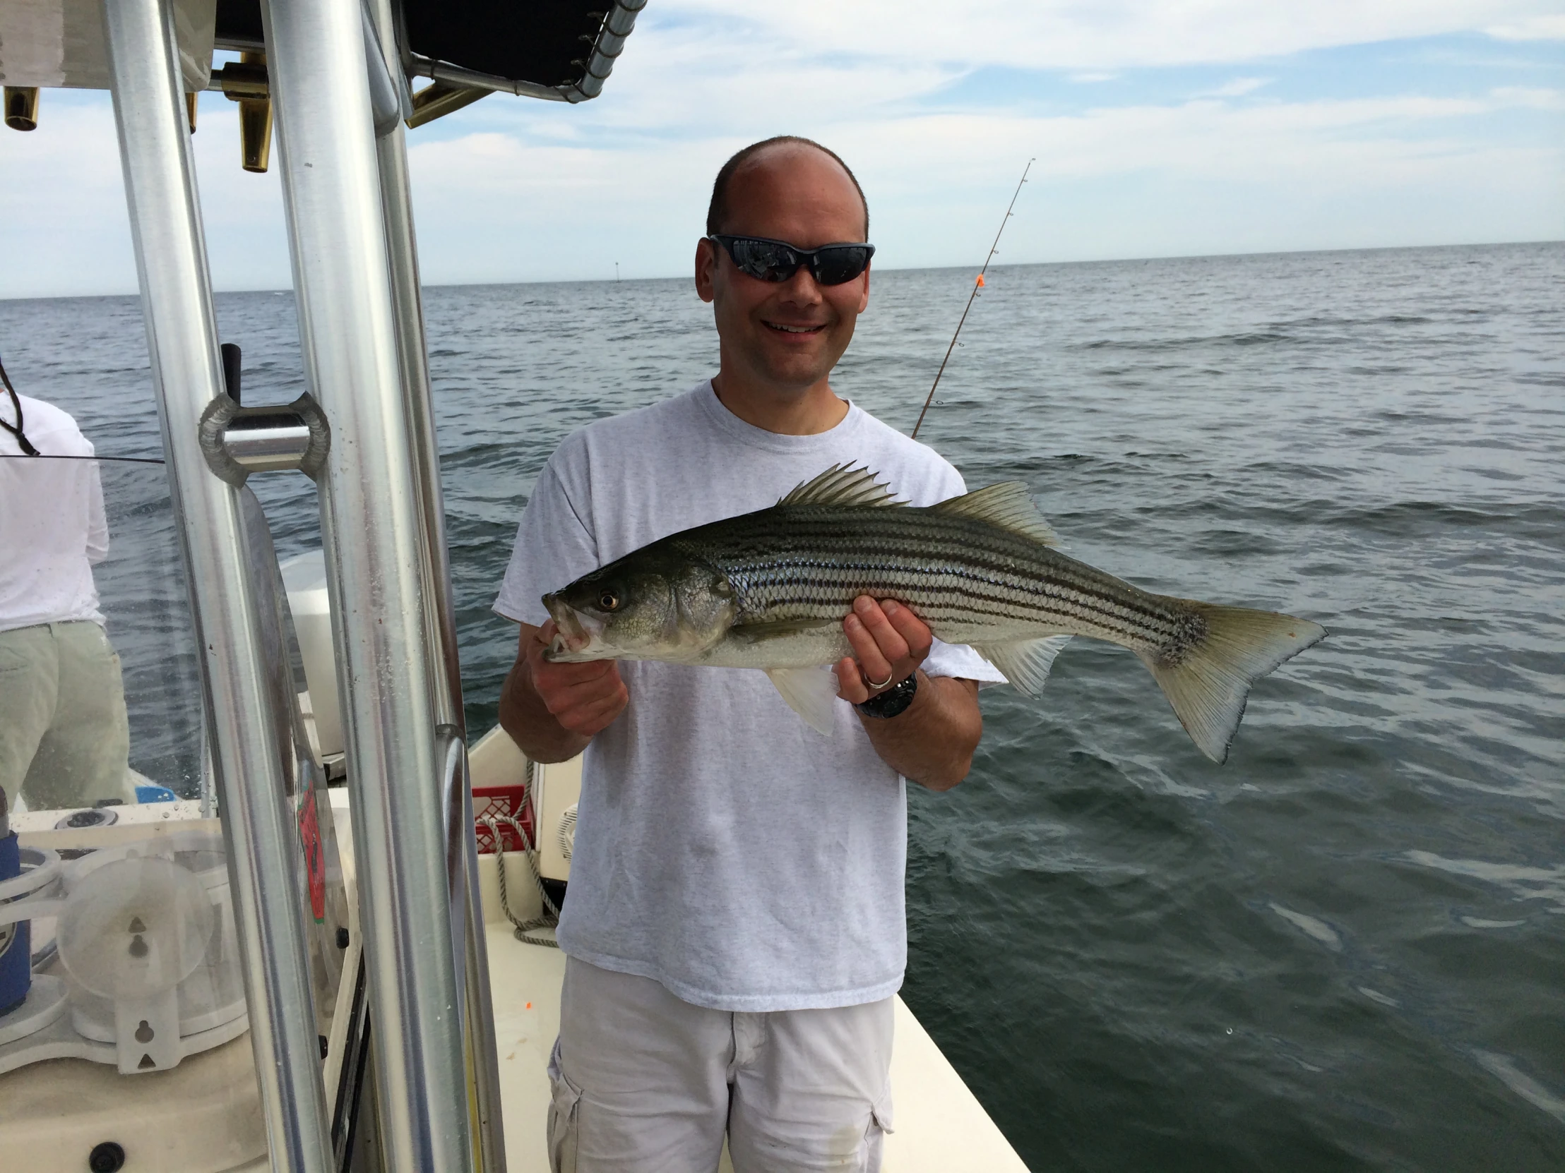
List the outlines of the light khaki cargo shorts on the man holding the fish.
<svg viewBox="0 0 1565 1173">
<path fill-rule="evenodd" d="M 878 1173 L 892 999 L 731 1013 L 570 957 L 549 1060 L 554 1173 Z"/>
</svg>

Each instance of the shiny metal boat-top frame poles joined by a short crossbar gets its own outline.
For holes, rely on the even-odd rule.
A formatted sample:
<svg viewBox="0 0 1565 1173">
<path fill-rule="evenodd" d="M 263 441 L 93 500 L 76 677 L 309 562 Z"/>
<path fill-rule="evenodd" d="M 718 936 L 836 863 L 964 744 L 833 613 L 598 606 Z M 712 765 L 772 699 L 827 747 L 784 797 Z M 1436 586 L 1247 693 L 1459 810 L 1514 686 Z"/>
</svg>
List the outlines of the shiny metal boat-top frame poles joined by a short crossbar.
<svg viewBox="0 0 1565 1173">
<path fill-rule="evenodd" d="M 404 105 L 404 95 L 385 92 L 388 75 L 401 77 L 388 70 L 399 61 L 391 6 L 261 6 L 307 407 L 321 427 L 308 429 L 307 441 L 311 421 L 294 410 L 293 418 L 257 418 L 277 435 L 208 429 L 205 447 L 202 422 L 214 404 L 235 424 L 249 408 L 235 411 L 225 397 L 174 8 L 114 0 L 105 14 L 272 1168 L 336 1167 L 310 1001 L 311 926 L 293 898 L 296 829 L 283 787 L 294 765 L 285 760 L 290 730 L 268 704 L 263 572 L 244 557 L 244 477 L 297 466 L 311 472 L 321 504 L 377 1148 L 394 1170 L 455 1173 L 480 1160 L 502 1170 L 482 920 L 471 909 L 476 862 L 465 849 L 448 851 L 448 820 L 435 816 L 443 796 L 430 785 L 443 769 L 465 777 L 465 748 L 404 130 L 390 117 L 391 99 Z M 255 441 L 257 450 L 228 439 Z M 466 801 L 465 787 L 451 782 L 448 791 Z M 455 826 L 471 838 L 471 816 Z M 291 898 L 264 901 L 263 893 Z M 457 920 L 452 901 L 470 906 Z M 440 940 L 451 948 L 429 948 Z"/>
</svg>

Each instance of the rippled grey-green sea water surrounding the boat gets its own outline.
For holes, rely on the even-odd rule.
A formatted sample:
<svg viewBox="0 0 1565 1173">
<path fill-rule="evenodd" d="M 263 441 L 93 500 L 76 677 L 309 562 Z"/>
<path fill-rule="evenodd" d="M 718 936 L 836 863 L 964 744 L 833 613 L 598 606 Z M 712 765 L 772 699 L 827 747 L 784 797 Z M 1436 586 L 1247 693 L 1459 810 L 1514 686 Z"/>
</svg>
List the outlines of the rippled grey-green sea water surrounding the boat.
<svg viewBox="0 0 1565 1173">
<path fill-rule="evenodd" d="M 839 391 L 911 429 L 970 280 L 875 274 Z M 218 311 L 247 402 L 304 389 L 291 296 Z M 545 458 L 717 339 L 689 282 L 426 311 L 482 732 Z M 100 454 L 156 455 L 133 299 L 3 302 L 0 352 Z M 903 995 L 1031 1168 L 1565 1168 L 1565 246 L 1000 267 L 920 438 L 1025 480 L 1074 557 L 1332 633 L 1224 766 L 1078 640 L 1042 701 L 984 693 L 967 782 L 914 788 Z M 315 544 L 308 482 L 257 480 L 282 552 Z M 188 690 L 178 632 L 110 621 L 133 710 Z"/>
</svg>

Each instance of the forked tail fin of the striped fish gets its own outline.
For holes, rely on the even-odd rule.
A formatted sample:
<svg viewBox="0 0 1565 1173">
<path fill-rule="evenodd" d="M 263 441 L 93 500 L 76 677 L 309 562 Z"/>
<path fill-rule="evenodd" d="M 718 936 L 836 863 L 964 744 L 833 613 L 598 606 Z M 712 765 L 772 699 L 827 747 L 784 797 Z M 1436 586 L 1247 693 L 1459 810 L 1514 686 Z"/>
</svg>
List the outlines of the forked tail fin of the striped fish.
<svg viewBox="0 0 1565 1173">
<path fill-rule="evenodd" d="M 1310 644 L 1326 629 L 1308 619 L 1249 607 L 1218 607 L 1172 599 L 1203 627 L 1188 643 L 1136 655 L 1152 671 L 1185 732 L 1213 762 L 1229 757 L 1229 744 L 1244 716 L 1250 685 Z"/>
</svg>

